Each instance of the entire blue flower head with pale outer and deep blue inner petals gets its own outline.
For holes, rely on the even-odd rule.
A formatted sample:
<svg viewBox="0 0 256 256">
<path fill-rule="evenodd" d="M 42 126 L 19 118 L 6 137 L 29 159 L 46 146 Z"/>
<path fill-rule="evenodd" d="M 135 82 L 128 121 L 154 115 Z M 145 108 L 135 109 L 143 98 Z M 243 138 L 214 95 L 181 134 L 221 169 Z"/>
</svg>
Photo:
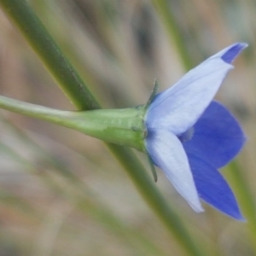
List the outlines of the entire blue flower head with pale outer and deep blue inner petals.
<svg viewBox="0 0 256 256">
<path fill-rule="evenodd" d="M 220 103 L 212 101 L 230 64 L 247 44 L 223 49 L 154 97 L 145 115 L 145 145 L 155 166 L 166 173 L 195 212 L 200 198 L 243 220 L 236 198 L 218 168 L 241 150 L 246 137 Z"/>
</svg>

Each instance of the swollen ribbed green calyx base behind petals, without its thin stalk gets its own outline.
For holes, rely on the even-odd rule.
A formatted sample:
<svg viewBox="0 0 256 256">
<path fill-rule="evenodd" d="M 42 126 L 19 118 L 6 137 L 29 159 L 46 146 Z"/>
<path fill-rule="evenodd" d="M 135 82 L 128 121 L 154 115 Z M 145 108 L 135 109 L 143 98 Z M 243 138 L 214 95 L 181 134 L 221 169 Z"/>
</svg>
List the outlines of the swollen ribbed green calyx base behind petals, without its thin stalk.
<svg viewBox="0 0 256 256">
<path fill-rule="evenodd" d="M 137 108 L 71 112 L 66 119 L 66 126 L 108 143 L 145 151 L 144 138 L 147 131 L 144 114 L 144 105 Z"/>
</svg>

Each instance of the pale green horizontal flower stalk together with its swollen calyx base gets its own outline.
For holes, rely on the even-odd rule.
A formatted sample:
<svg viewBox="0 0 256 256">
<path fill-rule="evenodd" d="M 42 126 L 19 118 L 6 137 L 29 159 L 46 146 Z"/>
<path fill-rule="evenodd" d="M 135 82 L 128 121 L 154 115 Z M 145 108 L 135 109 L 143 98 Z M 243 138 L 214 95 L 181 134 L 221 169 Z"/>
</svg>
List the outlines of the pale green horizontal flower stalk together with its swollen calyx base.
<svg viewBox="0 0 256 256">
<path fill-rule="evenodd" d="M 144 150 L 144 106 L 124 109 L 63 111 L 0 96 L 0 107 L 81 131 L 104 142 Z"/>
</svg>

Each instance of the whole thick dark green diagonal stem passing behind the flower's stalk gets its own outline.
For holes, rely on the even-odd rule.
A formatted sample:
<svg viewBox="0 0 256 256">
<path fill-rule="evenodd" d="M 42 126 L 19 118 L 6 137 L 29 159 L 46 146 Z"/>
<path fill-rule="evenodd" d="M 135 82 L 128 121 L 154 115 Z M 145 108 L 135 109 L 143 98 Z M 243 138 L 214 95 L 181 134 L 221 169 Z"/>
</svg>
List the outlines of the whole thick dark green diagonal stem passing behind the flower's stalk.
<svg viewBox="0 0 256 256">
<path fill-rule="evenodd" d="M 79 109 L 99 108 L 94 96 L 90 94 L 80 79 L 79 75 L 67 61 L 61 49 L 55 44 L 53 38 L 44 28 L 38 16 L 33 12 L 26 1 L 21 0 L 0 0 L 3 10 L 9 15 L 26 40 L 32 45 L 39 57 L 44 61 L 44 65 L 49 69 L 58 81 L 67 96 Z M 183 249 L 189 255 L 205 255 L 200 246 L 195 245 L 192 237 L 189 236 L 187 228 L 183 225 L 176 212 L 168 206 L 160 195 L 155 184 L 148 177 L 142 163 L 133 154 L 131 149 L 108 144 L 108 148 L 119 160 L 125 170 L 131 176 L 137 189 L 143 195 L 148 205 L 159 215 L 166 228 L 176 237 Z"/>
</svg>

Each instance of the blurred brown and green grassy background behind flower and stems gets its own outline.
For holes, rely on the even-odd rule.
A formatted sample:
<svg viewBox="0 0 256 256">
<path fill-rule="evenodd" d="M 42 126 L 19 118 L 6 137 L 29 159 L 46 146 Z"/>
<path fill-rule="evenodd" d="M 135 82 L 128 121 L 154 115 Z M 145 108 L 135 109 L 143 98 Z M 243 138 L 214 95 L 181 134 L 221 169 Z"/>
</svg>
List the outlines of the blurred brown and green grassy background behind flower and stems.
<svg viewBox="0 0 256 256">
<path fill-rule="evenodd" d="M 29 2 L 104 108 L 143 104 L 155 78 L 165 90 L 218 50 L 249 44 L 217 95 L 248 138 L 222 170 L 247 222 L 205 204 L 205 212 L 193 212 L 160 170 L 155 186 L 208 255 L 256 255 L 255 1 L 166 1 L 168 24 L 162 1 Z M 74 109 L 1 9 L 0 94 Z M 186 255 L 102 142 L 0 114 L 1 256 Z"/>
</svg>

